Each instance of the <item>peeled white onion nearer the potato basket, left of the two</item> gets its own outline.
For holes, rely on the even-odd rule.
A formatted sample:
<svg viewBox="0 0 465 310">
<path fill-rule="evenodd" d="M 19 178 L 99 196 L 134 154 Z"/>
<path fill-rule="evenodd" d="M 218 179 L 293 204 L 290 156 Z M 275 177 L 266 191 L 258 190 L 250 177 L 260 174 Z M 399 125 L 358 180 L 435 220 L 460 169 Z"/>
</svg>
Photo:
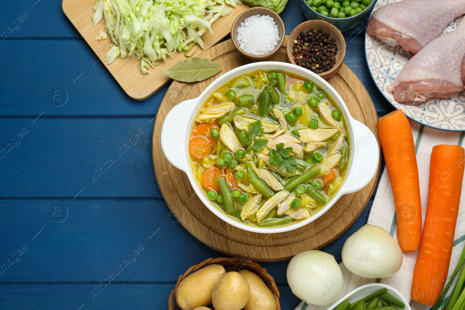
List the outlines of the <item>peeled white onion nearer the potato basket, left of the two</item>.
<svg viewBox="0 0 465 310">
<path fill-rule="evenodd" d="M 334 257 L 322 251 L 305 251 L 292 257 L 287 266 L 292 293 L 306 303 L 324 305 L 342 292 L 344 278 Z"/>
</svg>

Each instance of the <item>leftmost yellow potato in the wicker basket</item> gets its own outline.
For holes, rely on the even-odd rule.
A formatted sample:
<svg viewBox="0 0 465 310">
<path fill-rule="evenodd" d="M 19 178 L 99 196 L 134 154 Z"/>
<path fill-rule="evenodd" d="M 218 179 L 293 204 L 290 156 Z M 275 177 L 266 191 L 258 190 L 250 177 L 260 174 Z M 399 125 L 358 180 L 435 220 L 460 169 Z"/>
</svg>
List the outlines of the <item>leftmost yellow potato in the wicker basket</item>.
<svg viewBox="0 0 465 310">
<path fill-rule="evenodd" d="M 206 266 L 187 276 L 178 286 L 176 303 L 182 310 L 193 310 L 212 303 L 213 288 L 226 270 L 219 264 Z"/>
</svg>

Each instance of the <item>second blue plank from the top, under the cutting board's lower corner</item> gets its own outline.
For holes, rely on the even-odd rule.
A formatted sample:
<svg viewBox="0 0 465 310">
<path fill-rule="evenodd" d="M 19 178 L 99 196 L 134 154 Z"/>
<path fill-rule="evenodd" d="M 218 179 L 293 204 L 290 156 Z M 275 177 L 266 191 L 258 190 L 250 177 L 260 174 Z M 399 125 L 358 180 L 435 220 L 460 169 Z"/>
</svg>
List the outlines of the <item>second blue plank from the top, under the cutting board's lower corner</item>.
<svg viewBox="0 0 465 310">
<path fill-rule="evenodd" d="M 28 51 L 34 51 L 29 53 Z M 359 77 L 379 113 L 392 111 L 374 85 L 364 59 L 364 40 L 347 44 L 345 63 Z M 130 99 L 86 42 L 9 40 L 0 44 L 0 117 L 154 117 L 168 86 L 144 101 Z M 71 56 L 72 55 L 72 56 Z M 19 82 L 20 81 L 20 82 Z"/>
</svg>

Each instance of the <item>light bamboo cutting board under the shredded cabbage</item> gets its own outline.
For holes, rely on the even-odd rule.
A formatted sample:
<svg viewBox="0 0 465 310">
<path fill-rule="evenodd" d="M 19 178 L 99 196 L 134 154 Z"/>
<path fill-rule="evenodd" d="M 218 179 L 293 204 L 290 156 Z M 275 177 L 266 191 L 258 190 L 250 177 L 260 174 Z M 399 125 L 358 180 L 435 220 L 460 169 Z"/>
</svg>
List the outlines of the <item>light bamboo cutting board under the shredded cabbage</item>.
<svg viewBox="0 0 465 310">
<path fill-rule="evenodd" d="M 92 9 L 94 4 L 95 0 L 63 0 L 62 7 L 66 17 L 73 23 L 74 27 L 76 27 L 87 44 L 93 49 L 110 73 L 112 73 L 116 81 L 120 83 L 120 86 L 129 97 L 136 100 L 144 100 L 152 96 L 170 80 L 166 74 L 161 72 L 170 69 L 179 61 L 188 59 L 184 52 L 176 52 L 173 57 L 168 57 L 166 62 L 160 60 L 158 66 L 150 68 L 149 71 L 152 72 L 151 74 L 143 74 L 140 71 L 140 60 L 131 56 L 126 56 L 124 59 L 116 57 L 108 65 L 105 61 L 105 56 L 111 47 L 112 40 L 108 34 L 108 38 L 105 40 L 95 40 L 100 30 L 105 31 L 105 18 L 102 18 L 95 27 L 92 25 L 90 17 L 94 13 Z M 233 8 L 230 14 L 220 17 L 215 21 L 212 25 L 214 34 L 207 30 L 202 36 L 205 39 L 204 48 L 197 49 L 191 57 L 199 56 L 199 54 L 205 52 L 211 46 L 218 43 L 219 40 L 226 37 L 231 32 L 231 26 L 233 26 L 236 17 L 248 8 L 250 6 L 247 4 L 238 5 Z"/>
</svg>

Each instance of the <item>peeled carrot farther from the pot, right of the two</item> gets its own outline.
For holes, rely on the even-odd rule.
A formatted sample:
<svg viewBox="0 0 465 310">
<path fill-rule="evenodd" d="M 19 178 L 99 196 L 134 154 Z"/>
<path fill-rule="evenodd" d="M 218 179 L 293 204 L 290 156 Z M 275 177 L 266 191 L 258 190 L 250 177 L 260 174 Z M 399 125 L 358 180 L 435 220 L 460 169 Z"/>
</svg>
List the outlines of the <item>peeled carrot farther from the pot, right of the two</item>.
<svg viewBox="0 0 465 310">
<path fill-rule="evenodd" d="M 419 303 L 436 303 L 447 278 L 462 192 L 464 156 L 464 148 L 458 145 L 436 145 L 431 153 L 425 227 L 412 283 L 412 300 Z"/>
</svg>

